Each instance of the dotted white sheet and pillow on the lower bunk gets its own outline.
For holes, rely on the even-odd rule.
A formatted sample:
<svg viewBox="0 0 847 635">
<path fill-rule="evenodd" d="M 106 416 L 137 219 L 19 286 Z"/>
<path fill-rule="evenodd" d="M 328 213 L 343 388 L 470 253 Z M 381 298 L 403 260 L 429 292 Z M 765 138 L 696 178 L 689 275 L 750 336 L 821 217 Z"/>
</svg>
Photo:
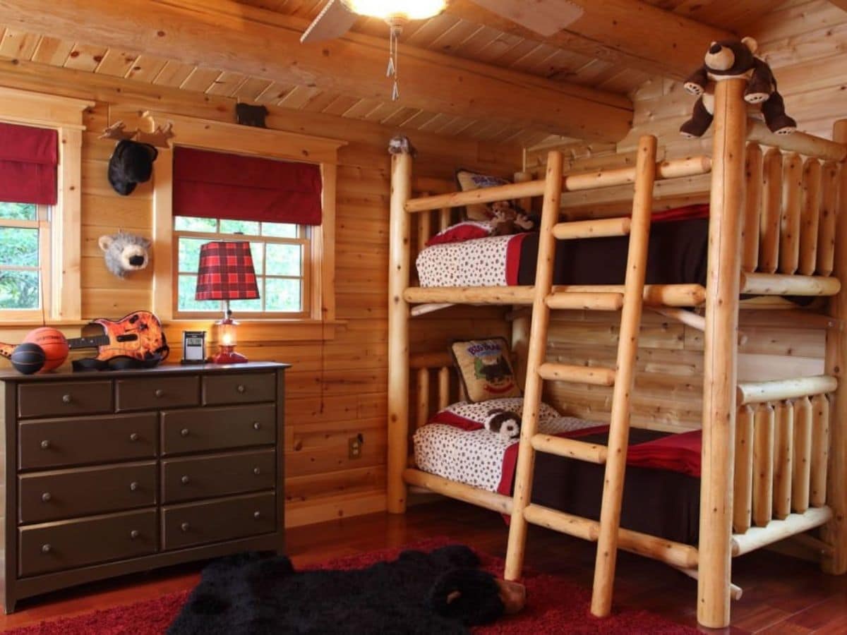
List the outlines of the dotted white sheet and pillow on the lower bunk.
<svg viewBox="0 0 847 635">
<path fill-rule="evenodd" d="M 480 403 L 460 401 L 440 411 L 432 421 L 414 434 L 415 462 L 418 469 L 490 492 L 502 492 L 504 461 L 507 450 L 518 444 L 516 439 L 501 439 L 484 428 L 492 408 L 523 411 L 523 398 L 492 399 Z M 595 428 L 597 422 L 574 417 L 560 417 L 551 406 L 541 404 L 539 432 L 561 434 L 584 428 Z"/>
</svg>

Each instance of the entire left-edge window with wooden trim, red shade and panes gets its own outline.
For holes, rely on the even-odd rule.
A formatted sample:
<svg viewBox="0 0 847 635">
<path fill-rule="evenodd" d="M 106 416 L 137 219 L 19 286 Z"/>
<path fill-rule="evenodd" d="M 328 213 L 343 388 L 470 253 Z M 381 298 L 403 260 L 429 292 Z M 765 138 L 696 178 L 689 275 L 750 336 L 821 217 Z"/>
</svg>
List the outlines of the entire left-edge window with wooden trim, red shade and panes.
<svg viewBox="0 0 847 635">
<path fill-rule="evenodd" d="M 0 86 L 0 320 L 78 321 L 82 114 L 93 102 Z"/>
</svg>

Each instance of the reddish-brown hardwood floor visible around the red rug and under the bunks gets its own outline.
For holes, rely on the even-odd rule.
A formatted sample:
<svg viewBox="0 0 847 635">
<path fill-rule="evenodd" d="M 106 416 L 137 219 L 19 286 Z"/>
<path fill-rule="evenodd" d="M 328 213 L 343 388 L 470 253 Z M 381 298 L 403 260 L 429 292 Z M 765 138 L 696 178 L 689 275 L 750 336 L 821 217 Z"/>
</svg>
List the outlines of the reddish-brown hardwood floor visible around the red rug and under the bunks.
<svg viewBox="0 0 847 635">
<path fill-rule="evenodd" d="M 454 501 L 416 505 L 405 516 L 373 514 L 299 527 L 287 533 L 298 568 L 342 555 L 447 536 L 491 555 L 505 555 L 507 527 L 495 513 Z M 696 583 L 682 573 L 635 555 L 618 560 L 615 604 L 652 610 L 695 626 Z M 530 527 L 527 564 L 590 588 L 594 547 L 540 527 Z M 0 616 L 0 629 L 131 604 L 191 588 L 202 565 L 89 584 L 22 600 L 18 612 Z M 734 562 L 734 583 L 744 596 L 733 605 L 733 633 L 847 633 L 847 576 L 831 577 L 817 566 L 769 550 Z"/>
</svg>

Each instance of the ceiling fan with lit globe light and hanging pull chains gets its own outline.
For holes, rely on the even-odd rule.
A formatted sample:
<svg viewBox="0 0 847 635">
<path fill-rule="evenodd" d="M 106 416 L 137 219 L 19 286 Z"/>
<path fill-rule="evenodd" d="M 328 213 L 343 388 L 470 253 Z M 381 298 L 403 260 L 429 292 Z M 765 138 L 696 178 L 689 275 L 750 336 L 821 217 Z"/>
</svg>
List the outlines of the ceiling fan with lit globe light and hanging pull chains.
<svg viewBox="0 0 847 635">
<path fill-rule="evenodd" d="M 329 0 L 300 38 L 302 43 L 343 36 L 360 17 L 384 19 L 390 27 L 390 57 L 386 75 L 394 78 L 391 101 L 400 98 L 397 53 L 403 26 L 410 20 L 435 17 L 451 0 Z M 571 25 L 583 8 L 571 0 L 471 0 L 494 14 L 549 37 Z"/>
</svg>

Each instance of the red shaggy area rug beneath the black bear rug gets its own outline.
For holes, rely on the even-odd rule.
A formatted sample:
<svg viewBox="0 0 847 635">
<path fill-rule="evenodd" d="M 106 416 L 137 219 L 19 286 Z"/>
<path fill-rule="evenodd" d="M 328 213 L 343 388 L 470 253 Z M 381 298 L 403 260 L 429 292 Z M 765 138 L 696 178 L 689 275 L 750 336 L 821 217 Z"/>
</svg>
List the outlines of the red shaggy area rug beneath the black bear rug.
<svg viewBox="0 0 847 635">
<path fill-rule="evenodd" d="M 396 549 L 381 549 L 367 554 L 331 560 L 316 568 L 355 569 L 379 560 L 393 560 L 403 549 L 428 551 L 449 544 L 444 539 Z M 501 575 L 503 560 L 480 554 L 488 571 Z M 645 610 L 621 610 L 603 620 L 590 615 L 590 590 L 568 583 L 562 577 L 527 572 L 527 607 L 515 616 L 503 618 L 487 627 L 473 629 L 479 635 L 542 635 L 543 633 L 659 633 L 693 635 L 695 628 L 667 621 Z M 188 597 L 188 591 L 164 595 L 134 605 L 116 606 L 82 616 L 45 621 L 38 626 L 7 631 L 8 635 L 160 635 L 168 629 Z"/>
</svg>

